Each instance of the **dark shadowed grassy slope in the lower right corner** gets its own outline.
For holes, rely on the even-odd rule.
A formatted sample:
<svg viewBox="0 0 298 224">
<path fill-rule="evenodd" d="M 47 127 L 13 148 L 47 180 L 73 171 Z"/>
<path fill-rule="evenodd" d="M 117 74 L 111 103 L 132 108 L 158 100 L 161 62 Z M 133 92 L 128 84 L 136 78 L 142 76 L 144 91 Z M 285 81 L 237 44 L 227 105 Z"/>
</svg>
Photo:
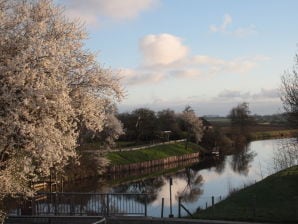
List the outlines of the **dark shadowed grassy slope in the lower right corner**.
<svg viewBox="0 0 298 224">
<path fill-rule="evenodd" d="M 214 208 L 194 216 L 203 219 L 255 220 L 282 223 L 298 221 L 298 166 L 233 193 Z"/>
</svg>

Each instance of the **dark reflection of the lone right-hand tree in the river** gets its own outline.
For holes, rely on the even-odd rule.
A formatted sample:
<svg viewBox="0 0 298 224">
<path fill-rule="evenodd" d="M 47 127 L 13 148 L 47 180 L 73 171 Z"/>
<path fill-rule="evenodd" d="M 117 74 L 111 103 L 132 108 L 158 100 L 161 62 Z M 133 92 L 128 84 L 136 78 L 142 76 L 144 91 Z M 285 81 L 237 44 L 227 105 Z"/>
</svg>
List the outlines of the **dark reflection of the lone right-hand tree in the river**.
<svg viewBox="0 0 298 224">
<path fill-rule="evenodd" d="M 234 172 L 247 176 L 250 163 L 254 160 L 256 153 L 250 150 L 249 144 L 236 144 L 236 147 L 232 156 L 231 167 Z"/>
</svg>

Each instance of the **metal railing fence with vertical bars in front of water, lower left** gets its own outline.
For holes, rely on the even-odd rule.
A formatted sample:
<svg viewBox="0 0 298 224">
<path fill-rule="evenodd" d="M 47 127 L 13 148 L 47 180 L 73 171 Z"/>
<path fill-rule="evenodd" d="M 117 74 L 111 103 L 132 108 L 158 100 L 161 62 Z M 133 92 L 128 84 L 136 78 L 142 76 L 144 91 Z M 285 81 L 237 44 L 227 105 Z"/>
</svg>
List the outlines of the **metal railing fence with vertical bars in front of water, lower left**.
<svg viewBox="0 0 298 224">
<path fill-rule="evenodd" d="M 147 194 L 39 193 L 15 215 L 147 216 Z"/>
</svg>

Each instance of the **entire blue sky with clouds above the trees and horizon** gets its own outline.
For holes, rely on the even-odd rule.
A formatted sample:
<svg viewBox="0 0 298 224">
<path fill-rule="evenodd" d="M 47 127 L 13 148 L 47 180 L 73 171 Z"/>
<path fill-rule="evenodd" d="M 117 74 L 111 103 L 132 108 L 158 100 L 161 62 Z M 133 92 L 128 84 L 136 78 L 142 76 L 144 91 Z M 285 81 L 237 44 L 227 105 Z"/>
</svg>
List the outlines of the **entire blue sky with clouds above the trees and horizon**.
<svg viewBox="0 0 298 224">
<path fill-rule="evenodd" d="M 281 75 L 297 52 L 296 0 L 56 0 L 84 22 L 86 48 L 121 77 L 120 112 L 226 116 L 283 112 Z"/>
</svg>

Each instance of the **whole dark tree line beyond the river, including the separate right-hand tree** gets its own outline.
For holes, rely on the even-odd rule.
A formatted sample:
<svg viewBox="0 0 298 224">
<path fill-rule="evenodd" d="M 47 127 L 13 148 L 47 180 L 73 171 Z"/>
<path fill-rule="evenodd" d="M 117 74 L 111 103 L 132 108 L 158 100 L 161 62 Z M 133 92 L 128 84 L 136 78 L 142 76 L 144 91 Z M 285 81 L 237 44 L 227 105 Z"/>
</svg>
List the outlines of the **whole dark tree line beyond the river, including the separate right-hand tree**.
<svg viewBox="0 0 298 224">
<path fill-rule="evenodd" d="M 190 106 L 180 113 L 171 109 L 155 112 L 148 108 L 138 108 L 132 112 L 118 113 L 116 117 L 121 121 L 124 131 L 119 137 L 120 141 L 140 144 L 187 139 L 187 142 L 200 144 L 207 150 L 222 151 L 230 151 L 233 143 L 248 142 L 250 127 L 254 124 L 247 103 L 231 109 L 228 132 L 199 118 Z"/>
</svg>

